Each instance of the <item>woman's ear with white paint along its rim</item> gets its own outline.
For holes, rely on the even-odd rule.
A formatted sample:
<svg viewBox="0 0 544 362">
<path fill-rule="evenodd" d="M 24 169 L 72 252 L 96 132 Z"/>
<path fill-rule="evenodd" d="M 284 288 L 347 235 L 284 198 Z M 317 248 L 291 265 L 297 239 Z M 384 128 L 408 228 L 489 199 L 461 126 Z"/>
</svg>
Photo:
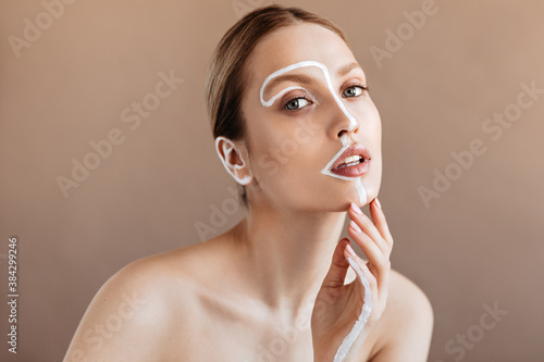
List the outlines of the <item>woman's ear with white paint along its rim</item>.
<svg viewBox="0 0 544 362">
<path fill-rule="evenodd" d="M 254 174 L 244 161 L 244 155 L 236 145 L 226 137 L 215 138 L 215 151 L 223 162 L 226 172 L 240 185 L 249 185 L 254 179 Z"/>
</svg>

